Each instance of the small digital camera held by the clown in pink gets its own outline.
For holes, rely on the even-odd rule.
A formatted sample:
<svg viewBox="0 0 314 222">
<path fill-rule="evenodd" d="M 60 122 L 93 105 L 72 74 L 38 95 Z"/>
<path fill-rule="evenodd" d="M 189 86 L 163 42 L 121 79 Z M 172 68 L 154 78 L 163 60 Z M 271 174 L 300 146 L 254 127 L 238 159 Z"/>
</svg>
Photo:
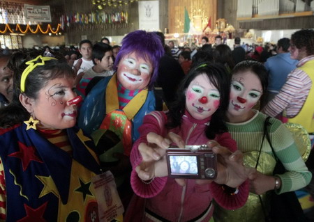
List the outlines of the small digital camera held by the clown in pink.
<svg viewBox="0 0 314 222">
<path fill-rule="evenodd" d="M 207 145 L 186 145 L 167 149 L 168 175 L 172 178 L 215 179 L 217 157 Z"/>
</svg>

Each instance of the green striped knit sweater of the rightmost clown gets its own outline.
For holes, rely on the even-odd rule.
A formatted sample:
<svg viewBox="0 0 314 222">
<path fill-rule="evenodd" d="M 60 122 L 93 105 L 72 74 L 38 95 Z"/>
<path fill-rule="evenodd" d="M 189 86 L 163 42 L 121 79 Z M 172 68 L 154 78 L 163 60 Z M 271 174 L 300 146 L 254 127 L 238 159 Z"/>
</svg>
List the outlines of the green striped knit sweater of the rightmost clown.
<svg viewBox="0 0 314 222">
<path fill-rule="evenodd" d="M 241 152 L 260 150 L 264 134 L 264 120 L 267 116 L 256 112 L 255 116 L 247 122 L 227 122 L 229 132 L 232 138 L 237 141 L 237 147 Z M 275 118 L 270 118 L 269 122 L 271 125 L 268 127 L 268 132 L 271 143 L 277 157 L 281 159 L 283 166 L 288 171 L 283 175 L 278 175 L 282 181 L 278 193 L 295 191 L 305 187 L 311 181 L 312 175 L 301 159 L 289 129 Z M 262 152 L 267 152 L 273 156 L 269 143 L 263 143 Z"/>
</svg>

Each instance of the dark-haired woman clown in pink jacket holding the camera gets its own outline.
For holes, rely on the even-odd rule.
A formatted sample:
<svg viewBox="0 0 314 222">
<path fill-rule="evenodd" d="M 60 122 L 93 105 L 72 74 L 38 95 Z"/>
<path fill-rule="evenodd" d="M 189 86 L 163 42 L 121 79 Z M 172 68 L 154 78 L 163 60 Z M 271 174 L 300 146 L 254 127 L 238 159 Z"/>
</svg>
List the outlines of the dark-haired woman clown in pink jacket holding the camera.
<svg viewBox="0 0 314 222">
<path fill-rule="evenodd" d="M 244 205 L 251 170 L 244 168 L 241 152 L 225 126 L 229 86 L 223 66 L 198 65 L 186 75 L 169 112 L 154 111 L 144 117 L 130 154 L 130 181 L 135 194 L 145 199 L 144 214 L 136 211 L 138 205 L 130 205 L 127 216 L 142 216 L 137 221 L 209 221 L 213 198 L 227 209 Z M 167 148 L 201 144 L 218 154 L 214 182 L 168 177 Z"/>
</svg>

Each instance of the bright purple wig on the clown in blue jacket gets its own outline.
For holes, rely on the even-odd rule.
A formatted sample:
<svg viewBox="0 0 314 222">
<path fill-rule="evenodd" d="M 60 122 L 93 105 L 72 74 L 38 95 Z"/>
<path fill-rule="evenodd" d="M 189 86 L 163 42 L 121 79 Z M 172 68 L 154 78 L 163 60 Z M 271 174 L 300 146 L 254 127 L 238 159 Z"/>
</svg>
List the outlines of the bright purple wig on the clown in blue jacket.
<svg viewBox="0 0 314 222">
<path fill-rule="evenodd" d="M 157 78 L 159 60 L 165 53 L 160 38 L 153 32 L 137 30 L 128 33 L 121 43 L 122 47 L 114 61 L 114 69 L 117 70 L 119 62 L 124 56 L 135 52 L 139 58 L 149 61 L 153 65 L 153 73 L 147 86 L 151 90 Z"/>
</svg>

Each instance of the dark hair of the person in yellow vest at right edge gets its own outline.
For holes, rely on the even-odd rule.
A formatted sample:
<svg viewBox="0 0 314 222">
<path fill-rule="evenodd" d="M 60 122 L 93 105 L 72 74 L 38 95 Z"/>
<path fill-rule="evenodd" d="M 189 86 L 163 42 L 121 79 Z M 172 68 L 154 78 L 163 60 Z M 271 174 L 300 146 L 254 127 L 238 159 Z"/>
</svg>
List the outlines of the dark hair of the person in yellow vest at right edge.
<svg viewBox="0 0 314 222">
<path fill-rule="evenodd" d="M 292 43 L 301 49 L 306 48 L 307 56 L 314 55 L 314 30 L 313 29 L 301 29 L 291 35 Z"/>
</svg>

